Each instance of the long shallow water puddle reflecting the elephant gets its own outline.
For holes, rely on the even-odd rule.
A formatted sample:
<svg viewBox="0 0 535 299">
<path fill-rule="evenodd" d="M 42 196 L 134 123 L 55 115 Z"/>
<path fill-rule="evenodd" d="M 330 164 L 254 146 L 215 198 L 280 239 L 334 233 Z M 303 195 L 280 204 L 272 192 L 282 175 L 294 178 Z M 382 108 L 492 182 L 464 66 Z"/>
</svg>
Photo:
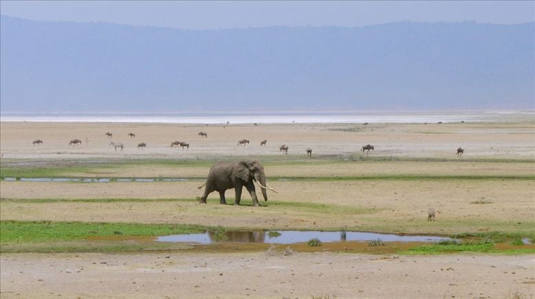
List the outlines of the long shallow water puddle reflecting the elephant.
<svg viewBox="0 0 535 299">
<path fill-rule="evenodd" d="M 307 242 L 317 238 L 323 243 L 339 241 L 373 241 L 381 239 L 383 242 L 437 242 L 450 240 L 448 237 L 433 236 L 407 236 L 388 235 L 374 232 L 320 232 L 301 230 L 276 230 L 270 232 L 256 231 L 227 231 L 225 235 L 217 235 L 216 232 L 207 231 L 202 234 L 184 234 L 157 237 L 161 242 L 190 242 L 209 244 L 216 242 L 239 242 L 239 243 L 280 243 L 292 244 Z"/>
</svg>

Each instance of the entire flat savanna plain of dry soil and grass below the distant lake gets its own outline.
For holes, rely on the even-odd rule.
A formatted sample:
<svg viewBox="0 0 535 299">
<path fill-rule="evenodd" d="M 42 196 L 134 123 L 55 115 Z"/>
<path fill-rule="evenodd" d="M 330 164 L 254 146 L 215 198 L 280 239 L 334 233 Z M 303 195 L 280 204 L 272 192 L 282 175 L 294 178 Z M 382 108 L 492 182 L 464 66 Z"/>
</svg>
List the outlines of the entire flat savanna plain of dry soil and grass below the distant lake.
<svg viewBox="0 0 535 299">
<path fill-rule="evenodd" d="M 36 139 L 43 143 L 32 145 Z M 375 148 L 364 153 L 367 144 Z M 2 122 L 0 154 L 1 298 L 535 297 L 532 116 L 367 125 Z M 228 205 L 217 192 L 199 204 L 210 167 L 234 160 L 260 160 L 278 193 L 268 191 L 261 207 L 245 190 L 240 206 L 233 190 Z M 206 230 L 450 241 L 156 241 Z"/>
</svg>

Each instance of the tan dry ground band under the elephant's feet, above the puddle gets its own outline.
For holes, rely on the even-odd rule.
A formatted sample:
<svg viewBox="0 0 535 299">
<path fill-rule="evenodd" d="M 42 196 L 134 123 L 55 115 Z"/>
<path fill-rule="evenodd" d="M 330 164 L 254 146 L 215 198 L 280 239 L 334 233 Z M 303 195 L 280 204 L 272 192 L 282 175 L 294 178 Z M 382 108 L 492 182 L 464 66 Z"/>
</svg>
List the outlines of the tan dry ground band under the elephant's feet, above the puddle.
<svg viewBox="0 0 535 299">
<path fill-rule="evenodd" d="M 221 206 L 219 195 L 210 204 L 197 204 L 200 182 L 41 183 L 0 182 L 3 198 L 177 198 L 154 202 L 17 202 L 3 201 L 2 219 L 68 220 L 206 224 L 256 228 L 365 228 L 401 232 L 455 233 L 512 228 L 532 222 L 535 215 L 532 180 L 371 180 L 341 182 L 272 182 L 267 204 L 301 202 L 331 204 L 354 213 L 300 207 Z M 232 202 L 233 190 L 227 191 Z M 488 204 L 474 204 L 484 200 Z M 263 201 L 262 201 L 263 202 Z M 251 204 L 243 194 L 242 204 Z M 426 222 L 429 207 L 437 221 Z M 362 211 L 361 211 L 362 210 Z M 505 226 L 504 224 L 508 224 Z"/>
</svg>

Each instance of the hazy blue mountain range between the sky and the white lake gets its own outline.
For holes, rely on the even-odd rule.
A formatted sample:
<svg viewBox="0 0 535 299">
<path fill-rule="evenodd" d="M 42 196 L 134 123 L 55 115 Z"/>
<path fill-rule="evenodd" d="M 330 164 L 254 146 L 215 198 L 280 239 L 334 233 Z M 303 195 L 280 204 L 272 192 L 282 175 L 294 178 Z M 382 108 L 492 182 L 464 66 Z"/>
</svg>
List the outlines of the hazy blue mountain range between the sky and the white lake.
<svg viewBox="0 0 535 299">
<path fill-rule="evenodd" d="M 0 22 L 4 112 L 535 108 L 535 23 Z"/>
</svg>

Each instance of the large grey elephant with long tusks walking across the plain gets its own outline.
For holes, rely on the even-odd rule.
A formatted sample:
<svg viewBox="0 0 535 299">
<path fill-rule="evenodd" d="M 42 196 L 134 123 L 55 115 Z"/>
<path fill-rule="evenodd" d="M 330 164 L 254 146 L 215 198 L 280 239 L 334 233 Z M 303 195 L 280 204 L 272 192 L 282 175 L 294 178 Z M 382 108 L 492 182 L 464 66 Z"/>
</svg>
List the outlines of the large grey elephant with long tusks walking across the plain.
<svg viewBox="0 0 535 299">
<path fill-rule="evenodd" d="M 241 189 L 245 187 L 249 191 L 253 206 L 260 206 L 254 182 L 259 184 L 264 200 L 267 202 L 267 189 L 274 191 L 267 186 L 265 182 L 264 167 L 259 160 L 242 160 L 234 163 L 217 163 L 210 168 L 206 182 L 198 187 L 204 188 L 204 194 L 201 196 L 199 203 L 206 204 L 208 194 L 213 191 L 219 192 L 219 204 L 227 204 L 225 200 L 225 191 L 234 188 L 236 200 L 234 205 L 237 206 L 241 200 Z M 276 192 L 276 191 L 274 191 Z"/>
</svg>

